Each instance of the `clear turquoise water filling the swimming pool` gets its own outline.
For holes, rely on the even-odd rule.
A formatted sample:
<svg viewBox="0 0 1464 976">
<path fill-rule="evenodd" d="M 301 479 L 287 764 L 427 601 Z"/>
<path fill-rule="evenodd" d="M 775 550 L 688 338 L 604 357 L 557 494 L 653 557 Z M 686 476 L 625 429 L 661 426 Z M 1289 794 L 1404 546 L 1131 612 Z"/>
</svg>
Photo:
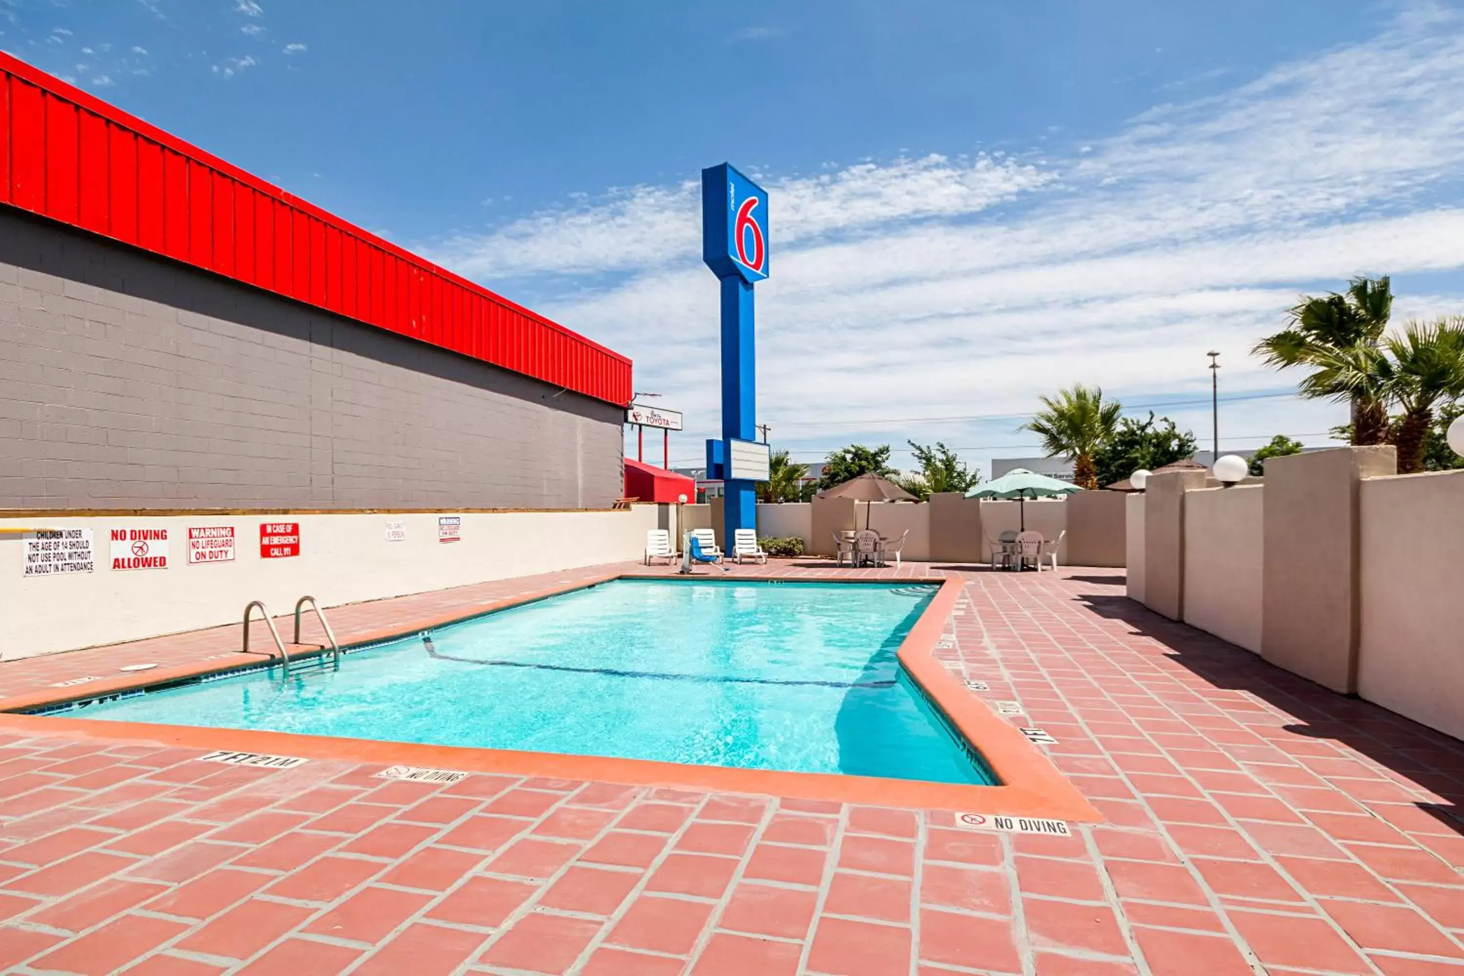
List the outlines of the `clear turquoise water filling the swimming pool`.
<svg viewBox="0 0 1464 976">
<path fill-rule="evenodd" d="M 78 717 L 991 783 L 895 653 L 935 588 L 615 581 Z"/>
</svg>

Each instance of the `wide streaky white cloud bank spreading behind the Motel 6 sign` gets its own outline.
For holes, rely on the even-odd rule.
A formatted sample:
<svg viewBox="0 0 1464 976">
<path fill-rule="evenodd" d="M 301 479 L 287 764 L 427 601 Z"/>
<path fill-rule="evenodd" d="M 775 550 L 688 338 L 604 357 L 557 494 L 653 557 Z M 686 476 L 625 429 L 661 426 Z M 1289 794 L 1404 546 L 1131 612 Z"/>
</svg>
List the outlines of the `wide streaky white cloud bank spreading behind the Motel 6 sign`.
<svg viewBox="0 0 1464 976">
<path fill-rule="evenodd" d="M 1208 395 L 1209 348 L 1228 394 L 1274 391 L 1293 378 L 1249 348 L 1299 291 L 1356 274 L 1461 281 L 1464 19 L 1408 7 L 1366 42 L 1155 107 L 1045 159 L 928 155 L 763 177 L 773 277 L 757 294 L 758 413 L 783 446 L 1022 445 L 1031 435 L 1010 414 L 1058 385 L 1101 383 L 1130 402 Z M 632 356 L 637 386 L 688 413 L 690 445 L 719 426 L 717 284 L 698 211 L 692 181 L 638 186 L 433 250 Z M 1464 309 L 1464 285 L 1398 309 Z M 1344 420 L 1284 398 L 1225 411 L 1224 438 L 1261 440 L 1319 442 Z M 1208 430 L 1208 405 L 1162 413 Z"/>
</svg>

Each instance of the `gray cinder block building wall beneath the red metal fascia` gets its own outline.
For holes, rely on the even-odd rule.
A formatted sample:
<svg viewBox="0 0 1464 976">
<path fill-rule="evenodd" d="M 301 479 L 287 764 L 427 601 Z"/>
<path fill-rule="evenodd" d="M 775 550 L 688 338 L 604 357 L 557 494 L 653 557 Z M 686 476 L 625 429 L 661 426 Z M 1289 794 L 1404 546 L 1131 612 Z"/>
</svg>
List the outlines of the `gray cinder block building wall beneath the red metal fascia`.
<svg viewBox="0 0 1464 976">
<path fill-rule="evenodd" d="M 605 508 L 622 416 L 0 208 L 0 508 Z"/>
</svg>

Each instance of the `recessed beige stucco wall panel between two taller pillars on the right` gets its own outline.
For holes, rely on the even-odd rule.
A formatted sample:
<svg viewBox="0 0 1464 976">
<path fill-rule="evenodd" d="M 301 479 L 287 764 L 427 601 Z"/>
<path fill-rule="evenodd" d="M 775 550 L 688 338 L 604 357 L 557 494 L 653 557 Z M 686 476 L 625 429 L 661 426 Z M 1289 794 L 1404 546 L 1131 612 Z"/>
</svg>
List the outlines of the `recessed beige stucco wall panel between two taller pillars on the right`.
<svg viewBox="0 0 1464 976">
<path fill-rule="evenodd" d="M 1261 651 L 1265 489 L 1184 495 L 1184 622 Z"/>
</svg>

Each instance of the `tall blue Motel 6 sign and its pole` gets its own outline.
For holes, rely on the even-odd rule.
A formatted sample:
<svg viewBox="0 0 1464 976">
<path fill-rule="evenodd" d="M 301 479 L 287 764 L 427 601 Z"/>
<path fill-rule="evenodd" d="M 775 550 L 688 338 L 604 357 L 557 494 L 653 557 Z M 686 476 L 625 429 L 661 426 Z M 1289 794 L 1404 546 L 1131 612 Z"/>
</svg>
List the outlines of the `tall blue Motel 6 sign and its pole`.
<svg viewBox="0 0 1464 976">
<path fill-rule="evenodd" d="M 707 477 L 723 483 L 722 538 L 731 549 L 736 530 L 757 528 L 757 478 L 735 477 L 745 474 L 748 452 L 733 442 L 755 440 L 752 285 L 767 278 L 770 262 L 767 190 L 726 162 L 701 171 L 701 259 L 722 281 L 722 439 L 707 440 Z"/>
</svg>

